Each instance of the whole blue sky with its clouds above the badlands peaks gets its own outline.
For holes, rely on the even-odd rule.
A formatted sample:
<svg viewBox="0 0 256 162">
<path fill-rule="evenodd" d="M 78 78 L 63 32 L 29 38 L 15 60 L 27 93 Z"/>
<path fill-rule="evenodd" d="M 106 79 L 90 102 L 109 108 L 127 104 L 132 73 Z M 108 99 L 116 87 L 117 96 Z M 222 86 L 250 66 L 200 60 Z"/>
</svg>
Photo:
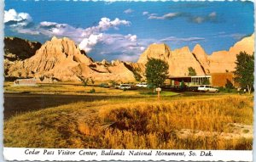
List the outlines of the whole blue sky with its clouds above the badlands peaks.
<svg viewBox="0 0 256 162">
<path fill-rule="evenodd" d="M 137 61 L 151 43 L 208 54 L 253 34 L 251 2 L 5 1 L 5 36 L 67 36 L 95 60 Z"/>
</svg>

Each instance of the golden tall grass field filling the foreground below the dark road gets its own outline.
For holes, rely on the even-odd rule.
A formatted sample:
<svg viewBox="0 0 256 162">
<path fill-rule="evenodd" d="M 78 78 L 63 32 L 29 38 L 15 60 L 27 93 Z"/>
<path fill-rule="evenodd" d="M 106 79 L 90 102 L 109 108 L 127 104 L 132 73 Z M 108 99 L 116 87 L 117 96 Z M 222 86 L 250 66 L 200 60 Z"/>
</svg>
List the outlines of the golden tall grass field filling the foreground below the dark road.
<svg viewBox="0 0 256 162">
<path fill-rule="evenodd" d="M 68 103 L 10 117 L 4 122 L 4 146 L 173 149 L 253 147 L 253 96 L 166 95 L 158 101 L 152 95 L 146 97 L 137 91 L 122 94 L 119 90 L 106 91 L 117 91 L 119 95 L 127 95 L 127 98 Z M 129 98 L 134 93 L 145 98 Z"/>
</svg>

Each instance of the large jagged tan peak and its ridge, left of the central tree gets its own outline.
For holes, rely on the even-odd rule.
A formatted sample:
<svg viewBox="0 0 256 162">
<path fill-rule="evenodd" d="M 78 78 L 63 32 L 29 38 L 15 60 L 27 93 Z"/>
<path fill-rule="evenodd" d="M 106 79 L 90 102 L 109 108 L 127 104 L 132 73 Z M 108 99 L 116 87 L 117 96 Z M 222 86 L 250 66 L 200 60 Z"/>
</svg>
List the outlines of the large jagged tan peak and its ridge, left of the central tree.
<svg viewBox="0 0 256 162">
<path fill-rule="evenodd" d="M 29 59 L 16 61 L 8 67 L 6 76 L 36 77 L 41 80 L 79 81 L 91 78 L 97 81 L 133 81 L 131 64 L 122 61 L 95 63 L 73 41 L 53 37 Z"/>
</svg>

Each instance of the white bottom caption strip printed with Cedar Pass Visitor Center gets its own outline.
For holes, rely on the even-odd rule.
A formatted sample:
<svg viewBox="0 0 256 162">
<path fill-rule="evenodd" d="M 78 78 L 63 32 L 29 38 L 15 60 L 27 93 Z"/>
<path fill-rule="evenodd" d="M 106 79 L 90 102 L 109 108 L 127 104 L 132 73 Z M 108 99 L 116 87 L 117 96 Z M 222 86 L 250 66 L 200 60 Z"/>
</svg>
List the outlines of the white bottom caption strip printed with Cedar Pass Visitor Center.
<svg viewBox="0 0 256 162">
<path fill-rule="evenodd" d="M 6 160 L 253 161 L 253 150 L 3 148 Z"/>
</svg>

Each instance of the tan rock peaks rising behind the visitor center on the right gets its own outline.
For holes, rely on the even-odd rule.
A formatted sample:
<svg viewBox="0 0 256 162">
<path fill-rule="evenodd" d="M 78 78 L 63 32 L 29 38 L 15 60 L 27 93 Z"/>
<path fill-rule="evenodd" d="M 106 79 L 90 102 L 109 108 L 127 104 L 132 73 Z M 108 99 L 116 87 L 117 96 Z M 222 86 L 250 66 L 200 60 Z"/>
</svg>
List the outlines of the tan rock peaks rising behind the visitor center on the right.
<svg viewBox="0 0 256 162">
<path fill-rule="evenodd" d="M 254 52 L 254 34 L 236 42 L 229 51 L 218 51 L 208 55 L 200 44 L 195 45 L 192 52 L 189 47 L 182 47 L 172 51 L 166 44 L 153 44 L 138 59 L 138 64 L 146 64 L 149 58 L 162 59 L 169 64 L 169 75 L 188 75 L 189 67 L 193 67 L 197 75 L 209 75 L 234 71 L 236 54 L 245 51 Z"/>
</svg>

